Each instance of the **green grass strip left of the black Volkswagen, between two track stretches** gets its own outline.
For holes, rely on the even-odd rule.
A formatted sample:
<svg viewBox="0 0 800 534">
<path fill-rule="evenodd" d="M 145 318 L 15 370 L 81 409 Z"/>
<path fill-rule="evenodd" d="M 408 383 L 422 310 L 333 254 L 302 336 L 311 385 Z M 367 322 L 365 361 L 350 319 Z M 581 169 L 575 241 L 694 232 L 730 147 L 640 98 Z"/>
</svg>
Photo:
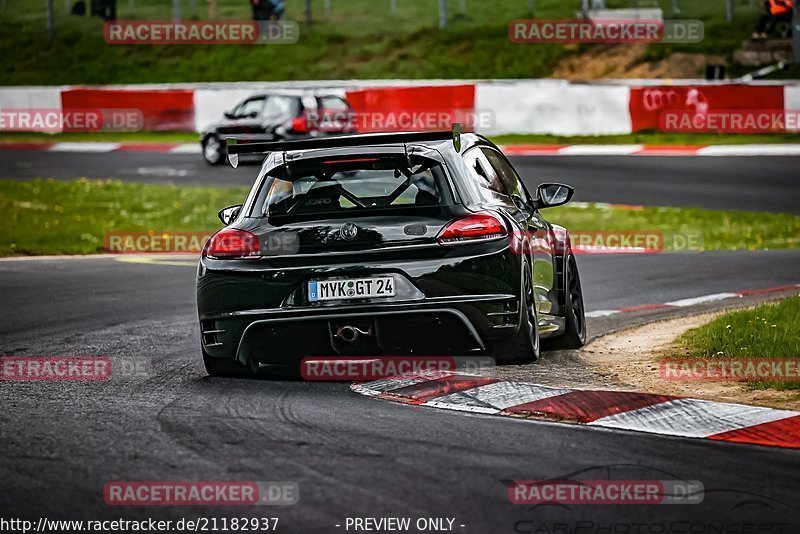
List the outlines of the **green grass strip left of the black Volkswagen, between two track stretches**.
<svg viewBox="0 0 800 534">
<path fill-rule="evenodd" d="M 214 232 L 217 211 L 246 188 L 176 187 L 115 180 L 0 181 L 0 256 L 104 252 L 110 232 Z"/>
</svg>

